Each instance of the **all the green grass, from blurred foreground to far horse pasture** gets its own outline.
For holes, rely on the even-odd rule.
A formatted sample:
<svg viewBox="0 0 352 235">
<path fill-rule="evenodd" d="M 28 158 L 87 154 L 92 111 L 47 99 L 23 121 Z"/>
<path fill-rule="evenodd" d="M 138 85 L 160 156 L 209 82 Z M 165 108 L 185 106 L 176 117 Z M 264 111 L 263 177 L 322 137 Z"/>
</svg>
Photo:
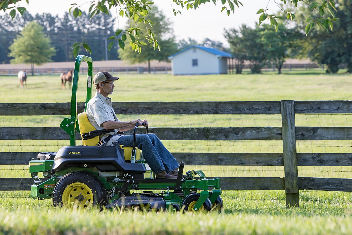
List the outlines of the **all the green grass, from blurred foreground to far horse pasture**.
<svg viewBox="0 0 352 235">
<path fill-rule="evenodd" d="M 171 76 L 119 75 L 111 95 L 113 101 L 277 101 L 351 100 L 350 74 L 327 75 L 322 71 L 300 71 L 277 75 Z M 9 82 L 9 79 L 11 81 Z M 85 79 L 84 76 L 80 80 Z M 58 76 L 29 76 L 26 89 L 14 77 L 0 77 L 2 103 L 69 102 L 71 91 L 61 90 Z M 85 92 L 81 81 L 78 101 Z M 2 116 L 0 126 L 58 126 L 57 117 Z M 130 119 L 124 116 L 121 119 Z M 0 120 L 1 120 L 0 119 Z M 228 127 L 281 126 L 278 115 L 151 115 L 153 126 Z M 296 115 L 297 126 L 350 126 L 350 115 Z M 1 141 L 1 152 L 54 151 L 50 143 L 42 150 L 40 141 L 20 145 Z M 238 141 L 165 142 L 171 151 L 280 152 L 282 143 Z M 206 146 L 205 146 L 206 145 Z M 351 152 L 351 141 L 298 142 L 301 152 Z M 56 150 L 55 150 L 56 151 Z M 0 177 L 29 177 L 27 166 L 0 166 Z M 282 177 L 281 167 L 204 167 L 211 176 Z M 346 177 L 350 168 L 301 168 L 301 174 Z M 9 173 L 11 172 L 11 173 Z M 249 172 L 249 173 L 248 173 Z M 11 175 L 10 175 L 11 174 Z M 351 176 L 347 176 L 351 177 Z M 352 178 L 352 177 L 351 177 Z M 282 191 L 226 191 L 224 213 L 192 215 L 124 211 L 66 211 L 53 208 L 50 200 L 29 198 L 29 192 L 0 191 L 0 234 L 351 234 L 352 195 L 350 192 L 300 192 L 300 208 L 285 208 Z"/>
</svg>

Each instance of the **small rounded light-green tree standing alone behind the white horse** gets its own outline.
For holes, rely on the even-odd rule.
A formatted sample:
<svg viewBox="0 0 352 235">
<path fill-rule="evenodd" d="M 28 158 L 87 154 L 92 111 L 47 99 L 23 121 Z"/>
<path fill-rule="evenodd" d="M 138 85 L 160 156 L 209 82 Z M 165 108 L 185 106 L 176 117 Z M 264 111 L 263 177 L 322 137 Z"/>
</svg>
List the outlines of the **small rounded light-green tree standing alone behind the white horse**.
<svg viewBox="0 0 352 235">
<path fill-rule="evenodd" d="M 35 21 L 25 26 L 13 44 L 10 46 L 9 56 L 14 57 L 11 63 L 30 63 L 32 75 L 34 64 L 40 65 L 50 62 L 50 57 L 55 55 L 55 48 L 50 46 L 50 38 L 46 37 L 41 27 Z"/>
</svg>

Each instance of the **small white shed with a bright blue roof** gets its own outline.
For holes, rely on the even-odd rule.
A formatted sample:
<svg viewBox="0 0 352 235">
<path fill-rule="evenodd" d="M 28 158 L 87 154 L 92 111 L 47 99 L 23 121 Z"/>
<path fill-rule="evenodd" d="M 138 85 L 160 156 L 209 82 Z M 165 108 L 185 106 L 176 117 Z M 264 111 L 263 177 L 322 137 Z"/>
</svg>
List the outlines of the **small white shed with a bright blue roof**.
<svg viewBox="0 0 352 235">
<path fill-rule="evenodd" d="M 190 46 L 168 58 L 172 75 L 227 74 L 231 54 L 213 47 Z"/>
</svg>

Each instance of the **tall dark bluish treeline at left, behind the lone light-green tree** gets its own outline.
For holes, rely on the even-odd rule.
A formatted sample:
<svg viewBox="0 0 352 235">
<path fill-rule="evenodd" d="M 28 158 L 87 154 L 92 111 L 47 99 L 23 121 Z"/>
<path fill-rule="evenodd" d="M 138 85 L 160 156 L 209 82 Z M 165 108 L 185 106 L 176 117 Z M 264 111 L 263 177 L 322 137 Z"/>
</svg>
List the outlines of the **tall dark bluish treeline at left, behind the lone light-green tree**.
<svg viewBox="0 0 352 235">
<path fill-rule="evenodd" d="M 56 55 L 51 57 L 54 62 L 74 61 L 72 46 L 83 40 L 90 45 L 96 60 L 104 60 L 106 56 L 109 60 L 118 59 L 117 44 L 106 51 L 107 38 L 115 35 L 115 19 L 111 15 L 99 14 L 91 20 L 85 12 L 78 18 L 67 12 L 62 18 L 50 13 L 36 14 L 33 17 L 25 12 L 22 17 L 13 20 L 8 15 L 0 17 L 0 63 L 10 63 L 12 59 L 8 55 L 10 45 L 21 30 L 33 20 L 44 28 L 44 33 L 51 39 L 51 46 L 56 50 Z M 82 49 L 80 55 L 90 54 Z"/>
</svg>

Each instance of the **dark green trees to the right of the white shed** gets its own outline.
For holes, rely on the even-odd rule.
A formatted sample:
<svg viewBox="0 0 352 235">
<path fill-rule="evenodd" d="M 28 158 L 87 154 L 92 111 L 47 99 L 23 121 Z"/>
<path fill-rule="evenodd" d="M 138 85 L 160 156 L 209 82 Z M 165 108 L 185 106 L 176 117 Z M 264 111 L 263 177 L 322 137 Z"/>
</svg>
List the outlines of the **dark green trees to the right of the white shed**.
<svg viewBox="0 0 352 235">
<path fill-rule="evenodd" d="M 234 57 L 236 73 L 240 74 L 245 61 L 249 61 L 252 73 L 260 73 L 265 65 L 275 66 L 279 73 L 286 58 L 310 58 L 318 64 L 327 65 L 327 73 L 336 73 L 341 67 L 352 72 L 352 1 L 338 0 L 338 22 L 329 25 L 332 31 L 323 27 L 320 13 L 300 7 L 295 20 L 279 21 L 278 30 L 270 25 L 225 32 Z M 283 13 L 284 16 L 285 13 Z M 310 29 L 306 19 L 313 19 L 318 27 Z M 309 27 L 309 28 L 307 28 Z M 307 30 L 309 33 L 306 35 Z"/>
</svg>

